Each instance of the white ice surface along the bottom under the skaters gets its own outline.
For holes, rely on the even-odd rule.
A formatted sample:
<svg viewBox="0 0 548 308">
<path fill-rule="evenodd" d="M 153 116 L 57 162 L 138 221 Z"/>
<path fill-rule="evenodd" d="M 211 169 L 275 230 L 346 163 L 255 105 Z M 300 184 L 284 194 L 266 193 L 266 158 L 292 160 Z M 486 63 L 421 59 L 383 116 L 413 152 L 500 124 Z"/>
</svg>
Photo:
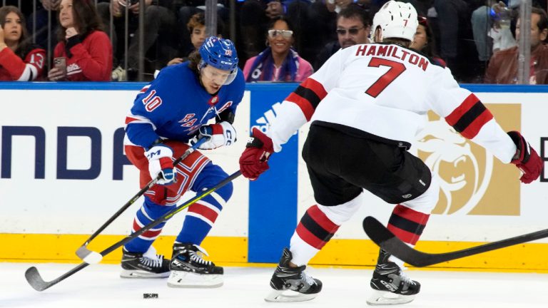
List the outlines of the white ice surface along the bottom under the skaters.
<svg viewBox="0 0 548 308">
<path fill-rule="evenodd" d="M 51 308 L 351 308 L 368 307 L 371 270 L 310 268 L 323 291 L 310 302 L 268 303 L 273 267 L 225 267 L 225 284 L 217 289 L 174 289 L 166 279 L 122 279 L 119 265 L 90 265 L 43 292 L 24 278 L 24 263 L 0 263 L 0 307 Z M 51 281 L 76 265 L 36 264 Z M 412 270 L 422 284 L 414 302 L 395 307 L 533 308 L 548 307 L 548 274 L 433 272 Z M 158 299 L 143 299 L 158 293 Z"/>
</svg>

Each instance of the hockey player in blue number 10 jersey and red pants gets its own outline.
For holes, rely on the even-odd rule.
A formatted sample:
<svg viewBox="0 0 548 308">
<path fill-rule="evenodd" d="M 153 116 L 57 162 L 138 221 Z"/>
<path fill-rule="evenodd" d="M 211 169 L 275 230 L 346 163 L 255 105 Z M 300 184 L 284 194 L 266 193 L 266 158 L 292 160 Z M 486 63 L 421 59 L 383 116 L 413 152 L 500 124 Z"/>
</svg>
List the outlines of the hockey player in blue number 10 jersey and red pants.
<svg viewBox="0 0 548 308">
<path fill-rule="evenodd" d="M 140 170 L 141 187 L 162 176 L 144 194 L 133 232 L 173 209 L 186 191 L 201 192 L 228 176 L 199 151 L 176 168 L 173 160 L 196 138 L 207 138 L 199 147 L 203 150 L 235 142 L 232 123 L 244 88 L 234 44 L 211 36 L 189 61 L 163 68 L 137 95 L 126 118 L 126 155 Z M 213 119 L 214 124 L 208 123 Z M 229 183 L 188 207 L 171 261 L 156 255 L 152 247 L 165 222 L 128 242 L 123 247 L 121 277 L 169 276 L 170 287 L 222 285 L 223 268 L 203 260 L 206 253 L 200 245 L 232 192 Z"/>
</svg>

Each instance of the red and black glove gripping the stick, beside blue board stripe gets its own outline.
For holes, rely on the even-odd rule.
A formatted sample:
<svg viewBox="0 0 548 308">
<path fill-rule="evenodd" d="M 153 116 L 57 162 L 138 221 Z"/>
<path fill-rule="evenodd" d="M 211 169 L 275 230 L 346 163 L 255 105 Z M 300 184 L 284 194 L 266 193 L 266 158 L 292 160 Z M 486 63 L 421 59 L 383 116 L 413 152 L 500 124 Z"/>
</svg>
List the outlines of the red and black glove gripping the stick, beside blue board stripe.
<svg viewBox="0 0 548 308">
<path fill-rule="evenodd" d="M 257 180 L 259 175 L 268 170 L 268 158 L 274 153 L 272 139 L 268 138 L 257 128 L 245 145 L 245 150 L 240 156 L 240 171 L 250 180 Z"/>
</svg>

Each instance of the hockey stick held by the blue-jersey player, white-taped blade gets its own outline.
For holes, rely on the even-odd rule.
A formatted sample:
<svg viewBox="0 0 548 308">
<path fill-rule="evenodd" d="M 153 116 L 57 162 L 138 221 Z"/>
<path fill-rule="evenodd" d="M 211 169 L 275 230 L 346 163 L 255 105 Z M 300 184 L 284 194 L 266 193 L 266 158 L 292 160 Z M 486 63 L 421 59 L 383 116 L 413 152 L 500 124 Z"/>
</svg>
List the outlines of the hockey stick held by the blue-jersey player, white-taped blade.
<svg viewBox="0 0 548 308">
<path fill-rule="evenodd" d="M 179 158 L 177 158 L 173 162 L 173 166 L 176 166 L 178 163 L 181 163 L 181 161 L 187 158 L 188 155 L 191 155 L 191 153 L 193 153 L 194 150 L 196 150 L 202 143 L 204 143 L 205 140 L 208 140 L 208 138 L 199 139 L 198 142 L 192 145 L 191 148 L 188 148 L 188 150 L 186 150 L 185 153 L 183 153 L 183 155 L 181 155 Z M 99 235 L 99 233 L 105 230 L 105 228 L 108 227 L 108 225 L 110 225 L 116 218 L 118 218 L 118 216 L 120 216 L 122 212 L 124 212 L 125 210 L 128 209 L 128 207 L 133 205 L 133 202 L 136 202 L 136 200 L 138 200 L 139 197 L 141 197 L 144 193 L 146 193 L 147 190 L 151 189 L 154 185 L 156 185 L 158 180 L 160 180 L 161 176 L 162 176 L 161 174 L 158 174 L 156 178 L 148 182 L 148 184 L 145 185 L 145 187 L 141 188 L 141 190 L 139 190 L 138 193 L 136 193 L 136 195 L 131 197 L 131 199 L 128 202 L 126 202 L 126 204 L 123 205 L 120 208 L 120 210 L 118 210 L 118 212 L 114 213 L 112 217 L 108 218 L 108 220 L 105 223 L 103 223 L 103 225 L 99 227 L 96 230 L 96 232 L 93 232 L 93 234 L 86 240 L 86 242 L 84 242 L 81 245 L 81 247 L 78 248 L 78 250 L 76 250 L 76 255 L 81 260 L 89 264 L 95 264 L 95 263 L 101 262 L 101 260 L 103 259 L 103 256 L 101 256 L 98 252 L 93 252 L 91 250 L 88 250 L 87 246 L 89 245 L 89 242 L 91 242 L 91 240 L 93 240 L 97 235 Z"/>
</svg>

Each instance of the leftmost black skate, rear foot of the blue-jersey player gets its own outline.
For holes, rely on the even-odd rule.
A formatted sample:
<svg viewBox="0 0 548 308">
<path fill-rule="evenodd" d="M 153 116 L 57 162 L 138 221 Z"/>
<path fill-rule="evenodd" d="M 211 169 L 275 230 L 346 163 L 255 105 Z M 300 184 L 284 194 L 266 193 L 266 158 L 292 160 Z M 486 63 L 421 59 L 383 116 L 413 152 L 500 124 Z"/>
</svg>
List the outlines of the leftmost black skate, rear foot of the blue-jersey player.
<svg viewBox="0 0 548 308">
<path fill-rule="evenodd" d="M 123 278 L 163 278 L 169 276 L 169 260 L 163 255 L 153 253 L 128 252 L 123 249 L 122 272 Z"/>
</svg>

